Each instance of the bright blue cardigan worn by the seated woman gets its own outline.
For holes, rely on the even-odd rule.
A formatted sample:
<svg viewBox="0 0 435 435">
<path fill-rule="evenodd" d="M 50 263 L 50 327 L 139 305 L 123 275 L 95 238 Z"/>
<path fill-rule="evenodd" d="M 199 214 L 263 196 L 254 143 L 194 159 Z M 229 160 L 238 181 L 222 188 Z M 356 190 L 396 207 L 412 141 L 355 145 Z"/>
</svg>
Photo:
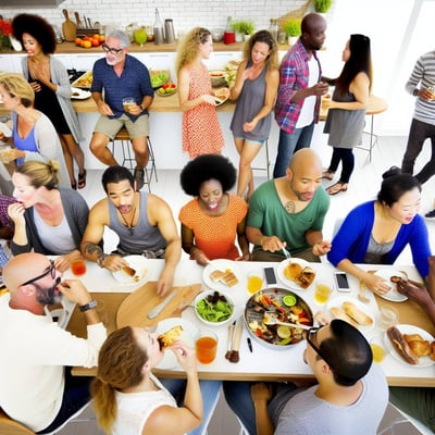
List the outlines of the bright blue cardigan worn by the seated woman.
<svg viewBox="0 0 435 435">
<path fill-rule="evenodd" d="M 327 254 L 327 259 L 335 266 L 345 259 L 352 263 L 363 262 L 374 223 L 374 202 L 364 202 L 346 216 L 333 238 L 333 246 Z M 427 228 L 420 214 L 417 214 L 408 225 L 401 225 L 391 250 L 385 256 L 385 264 L 393 264 L 408 244 L 411 247 L 415 268 L 425 278 L 428 274 L 427 258 L 431 256 L 431 248 Z"/>
</svg>

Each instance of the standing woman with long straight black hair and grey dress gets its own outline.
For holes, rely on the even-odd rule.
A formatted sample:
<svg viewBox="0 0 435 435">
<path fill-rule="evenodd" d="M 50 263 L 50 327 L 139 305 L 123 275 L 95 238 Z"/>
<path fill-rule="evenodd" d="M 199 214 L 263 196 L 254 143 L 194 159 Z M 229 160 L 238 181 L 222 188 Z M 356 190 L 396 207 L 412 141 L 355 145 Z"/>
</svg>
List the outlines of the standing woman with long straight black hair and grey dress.
<svg viewBox="0 0 435 435">
<path fill-rule="evenodd" d="M 333 98 L 322 101 L 323 108 L 330 109 L 324 133 L 330 134 L 327 145 L 334 147 L 323 178 L 333 179 L 341 161 L 338 182 L 326 189 L 330 195 L 347 190 L 355 166 L 353 147 L 361 144 L 373 82 L 370 38 L 351 35 L 343 51 L 343 61 L 346 63 L 339 77 L 328 79 L 328 84 L 335 86 Z"/>
</svg>

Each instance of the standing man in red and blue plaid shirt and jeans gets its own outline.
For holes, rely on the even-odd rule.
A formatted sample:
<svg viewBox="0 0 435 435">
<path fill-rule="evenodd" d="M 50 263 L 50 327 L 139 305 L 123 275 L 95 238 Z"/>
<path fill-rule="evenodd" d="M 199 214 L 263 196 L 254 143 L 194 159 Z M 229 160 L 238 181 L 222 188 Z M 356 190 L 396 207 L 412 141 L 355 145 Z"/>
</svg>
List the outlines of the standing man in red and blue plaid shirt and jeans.
<svg viewBox="0 0 435 435">
<path fill-rule="evenodd" d="M 279 126 L 278 153 L 273 177 L 285 175 L 291 154 L 309 148 L 319 121 L 320 98 L 328 91 L 316 51 L 325 41 L 326 21 L 311 13 L 301 23 L 302 35 L 283 58 L 275 120 Z M 322 82 L 322 79 L 324 82 Z"/>
</svg>

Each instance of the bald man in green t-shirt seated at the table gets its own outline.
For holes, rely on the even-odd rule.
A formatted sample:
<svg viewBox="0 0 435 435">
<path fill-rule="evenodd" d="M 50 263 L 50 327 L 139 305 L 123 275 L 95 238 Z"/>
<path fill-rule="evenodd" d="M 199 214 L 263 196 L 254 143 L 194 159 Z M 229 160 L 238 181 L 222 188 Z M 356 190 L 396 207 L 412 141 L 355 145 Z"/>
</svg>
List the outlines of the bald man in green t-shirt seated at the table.
<svg viewBox="0 0 435 435">
<path fill-rule="evenodd" d="M 282 261 L 283 248 L 293 257 L 319 262 L 331 249 L 323 240 L 330 197 L 321 187 L 322 162 L 310 148 L 293 156 L 284 177 L 263 183 L 249 200 L 246 234 L 254 245 L 253 261 Z"/>
</svg>

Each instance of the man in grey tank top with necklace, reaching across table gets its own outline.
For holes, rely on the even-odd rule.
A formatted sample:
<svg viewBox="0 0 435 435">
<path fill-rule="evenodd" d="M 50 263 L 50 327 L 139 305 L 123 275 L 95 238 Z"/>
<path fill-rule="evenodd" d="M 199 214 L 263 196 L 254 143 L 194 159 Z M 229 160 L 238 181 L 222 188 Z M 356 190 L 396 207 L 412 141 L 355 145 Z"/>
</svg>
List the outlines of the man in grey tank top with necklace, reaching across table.
<svg viewBox="0 0 435 435">
<path fill-rule="evenodd" d="M 173 286 L 182 241 L 167 203 L 156 195 L 135 191 L 134 185 L 134 177 L 126 167 L 110 166 L 104 171 L 102 186 L 108 198 L 97 202 L 89 212 L 82 252 L 87 260 L 112 272 L 128 266 L 122 256 L 164 258 L 157 284 L 158 294 L 163 296 Z M 109 256 L 98 246 L 105 226 L 120 238 L 116 251 Z"/>
</svg>

